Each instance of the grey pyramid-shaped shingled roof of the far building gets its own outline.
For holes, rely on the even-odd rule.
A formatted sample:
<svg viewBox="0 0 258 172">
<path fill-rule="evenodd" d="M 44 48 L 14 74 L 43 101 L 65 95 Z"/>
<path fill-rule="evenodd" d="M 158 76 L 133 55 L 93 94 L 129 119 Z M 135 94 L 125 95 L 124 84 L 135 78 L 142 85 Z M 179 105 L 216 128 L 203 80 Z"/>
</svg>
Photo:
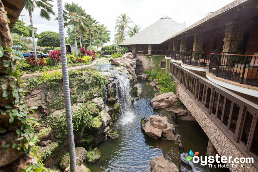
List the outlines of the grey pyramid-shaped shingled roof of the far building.
<svg viewBox="0 0 258 172">
<path fill-rule="evenodd" d="M 120 45 L 160 44 L 170 35 L 174 35 L 184 28 L 186 27 L 165 15 L 134 36 L 126 39 Z"/>
</svg>

